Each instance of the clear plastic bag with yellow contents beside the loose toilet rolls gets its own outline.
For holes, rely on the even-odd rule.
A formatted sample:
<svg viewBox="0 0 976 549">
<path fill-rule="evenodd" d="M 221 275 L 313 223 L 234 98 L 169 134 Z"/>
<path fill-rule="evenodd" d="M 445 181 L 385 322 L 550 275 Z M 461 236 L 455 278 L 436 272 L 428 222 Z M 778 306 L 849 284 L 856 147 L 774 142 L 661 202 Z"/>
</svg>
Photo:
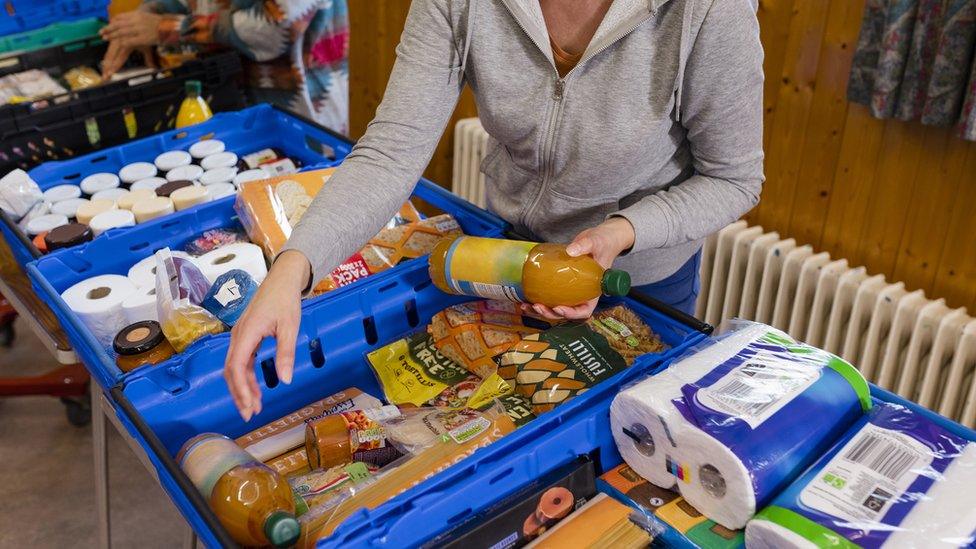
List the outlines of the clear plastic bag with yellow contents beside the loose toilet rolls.
<svg viewBox="0 0 976 549">
<path fill-rule="evenodd" d="M 210 281 L 192 261 L 173 256 L 169 248 L 156 252 L 156 310 L 176 352 L 224 331 L 224 323 L 200 306 L 209 290 Z"/>
</svg>

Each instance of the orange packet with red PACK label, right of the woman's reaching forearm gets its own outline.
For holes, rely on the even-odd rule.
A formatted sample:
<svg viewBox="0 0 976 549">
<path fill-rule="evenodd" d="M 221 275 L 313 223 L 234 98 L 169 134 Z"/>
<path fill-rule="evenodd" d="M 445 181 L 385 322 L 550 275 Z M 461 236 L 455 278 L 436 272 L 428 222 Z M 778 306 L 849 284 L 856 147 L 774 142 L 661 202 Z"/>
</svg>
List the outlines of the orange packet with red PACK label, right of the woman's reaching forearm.
<svg viewBox="0 0 976 549">
<path fill-rule="evenodd" d="M 407 201 L 379 234 L 336 267 L 312 293 L 322 294 L 395 267 L 401 261 L 425 256 L 442 238 L 461 234 L 461 226 L 450 215 L 421 219 L 413 204 Z"/>
</svg>

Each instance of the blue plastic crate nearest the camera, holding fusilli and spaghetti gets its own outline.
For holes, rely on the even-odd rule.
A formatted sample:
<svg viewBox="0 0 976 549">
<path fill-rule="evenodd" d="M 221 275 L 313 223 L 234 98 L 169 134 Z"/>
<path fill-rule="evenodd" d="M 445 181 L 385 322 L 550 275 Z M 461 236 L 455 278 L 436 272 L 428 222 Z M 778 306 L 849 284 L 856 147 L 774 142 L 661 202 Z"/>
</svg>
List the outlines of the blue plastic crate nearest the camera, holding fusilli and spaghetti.
<svg viewBox="0 0 976 549">
<path fill-rule="evenodd" d="M 411 266 L 382 284 L 345 290 L 333 294 L 328 306 L 304 311 L 291 385 L 279 384 L 274 375 L 273 341 L 262 344 L 255 365 L 264 391 L 264 409 L 250 423 L 244 423 L 237 414 L 224 383 L 227 335 L 210 338 L 178 363 L 127 379 L 113 390 L 126 416 L 124 422 L 151 454 L 160 483 L 208 545 L 220 544 L 222 529 L 215 527 L 212 513 L 173 462 L 171 456 L 183 442 L 206 431 L 240 436 L 349 386 L 382 395 L 365 354 L 422 328 L 436 312 L 466 299 L 437 290 L 424 265 Z M 372 511 L 356 513 L 322 544 L 359 546 L 366 541 L 388 540 L 396 546 L 414 546 L 473 512 L 471 507 L 476 501 L 480 503 L 486 490 L 499 496 L 510 493 L 554 466 L 550 461 L 565 462 L 595 448 L 613 459 L 616 450 L 609 429 L 600 425 L 607 421 L 610 400 L 624 384 L 656 371 L 704 337 L 694 327 L 657 310 L 632 300 L 628 305 L 672 348 L 642 357 L 627 371 L 478 450 L 458 465 Z M 603 415 L 594 414 L 594 410 L 603 410 Z M 551 442 L 545 452 L 526 452 L 540 440 Z M 472 490 L 477 490 L 477 498 L 472 497 Z"/>
</svg>

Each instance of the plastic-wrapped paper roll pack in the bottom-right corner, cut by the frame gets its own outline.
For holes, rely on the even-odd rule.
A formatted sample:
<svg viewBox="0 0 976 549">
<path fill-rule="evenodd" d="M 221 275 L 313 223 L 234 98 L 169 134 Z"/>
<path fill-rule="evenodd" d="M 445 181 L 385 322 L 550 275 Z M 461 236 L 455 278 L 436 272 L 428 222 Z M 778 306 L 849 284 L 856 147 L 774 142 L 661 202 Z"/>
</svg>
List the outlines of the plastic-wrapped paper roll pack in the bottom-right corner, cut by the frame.
<svg viewBox="0 0 976 549">
<path fill-rule="evenodd" d="M 972 547 L 976 443 L 879 404 L 746 527 L 750 548 Z"/>
</svg>

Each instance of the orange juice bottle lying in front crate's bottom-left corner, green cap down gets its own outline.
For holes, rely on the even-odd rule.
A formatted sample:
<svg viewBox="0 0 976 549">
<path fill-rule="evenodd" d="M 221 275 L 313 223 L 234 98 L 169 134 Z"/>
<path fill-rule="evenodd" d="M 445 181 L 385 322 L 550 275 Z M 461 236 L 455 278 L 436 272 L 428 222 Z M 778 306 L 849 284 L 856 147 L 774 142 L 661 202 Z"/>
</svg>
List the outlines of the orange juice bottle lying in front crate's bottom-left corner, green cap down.
<svg viewBox="0 0 976 549">
<path fill-rule="evenodd" d="M 203 433 L 176 460 L 241 545 L 289 547 L 301 535 L 288 482 L 234 441 Z"/>
</svg>

